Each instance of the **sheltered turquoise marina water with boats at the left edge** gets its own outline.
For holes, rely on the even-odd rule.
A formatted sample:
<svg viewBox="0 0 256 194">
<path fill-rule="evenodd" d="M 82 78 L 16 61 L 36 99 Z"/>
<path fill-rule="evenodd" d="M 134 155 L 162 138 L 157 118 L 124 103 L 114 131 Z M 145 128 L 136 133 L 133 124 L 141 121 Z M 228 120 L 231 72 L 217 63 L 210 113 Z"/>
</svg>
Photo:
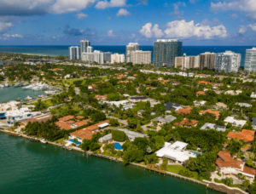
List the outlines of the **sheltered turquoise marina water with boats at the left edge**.
<svg viewBox="0 0 256 194">
<path fill-rule="evenodd" d="M 4 87 L 0 88 L 0 103 L 9 100 L 25 100 L 29 95 L 30 97 L 38 97 L 44 94 L 44 90 L 33 91 L 32 89 L 23 89 L 22 87 Z M 44 94 L 45 95 L 45 94 Z"/>
</svg>

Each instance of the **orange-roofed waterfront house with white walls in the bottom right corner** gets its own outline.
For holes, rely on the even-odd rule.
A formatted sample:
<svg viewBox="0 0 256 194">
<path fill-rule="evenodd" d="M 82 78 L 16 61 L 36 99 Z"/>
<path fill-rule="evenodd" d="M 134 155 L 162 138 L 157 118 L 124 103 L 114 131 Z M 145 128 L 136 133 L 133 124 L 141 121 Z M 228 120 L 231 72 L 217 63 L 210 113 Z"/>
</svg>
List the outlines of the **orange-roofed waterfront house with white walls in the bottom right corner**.
<svg viewBox="0 0 256 194">
<path fill-rule="evenodd" d="M 245 163 L 236 160 L 235 154 L 233 157 L 230 155 L 230 151 L 218 151 L 218 159 L 216 160 L 216 168 L 224 178 L 235 178 L 237 179 L 237 174 L 242 174 L 246 176 L 247 180 L 253 181 L 256 170 L 253 168 L 245 167 Z"/>
</svg>

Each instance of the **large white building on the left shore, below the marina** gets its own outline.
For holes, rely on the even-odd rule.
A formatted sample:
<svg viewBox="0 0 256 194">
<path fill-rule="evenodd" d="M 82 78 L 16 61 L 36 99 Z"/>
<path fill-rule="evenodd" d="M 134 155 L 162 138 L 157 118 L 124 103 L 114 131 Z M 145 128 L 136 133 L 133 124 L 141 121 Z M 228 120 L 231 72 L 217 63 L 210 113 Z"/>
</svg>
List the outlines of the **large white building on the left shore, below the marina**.
<svg viewBox="0 0 256 194">
<path fill-rule="evenodd" d="M 28 108 L 20 108 L 20 110 L 6 111 L 4 117 L 7 118 L 7 123 L 14 124 L 24 121 L 39 114 L 38 111 L 29 111 Z"/>
</svg>

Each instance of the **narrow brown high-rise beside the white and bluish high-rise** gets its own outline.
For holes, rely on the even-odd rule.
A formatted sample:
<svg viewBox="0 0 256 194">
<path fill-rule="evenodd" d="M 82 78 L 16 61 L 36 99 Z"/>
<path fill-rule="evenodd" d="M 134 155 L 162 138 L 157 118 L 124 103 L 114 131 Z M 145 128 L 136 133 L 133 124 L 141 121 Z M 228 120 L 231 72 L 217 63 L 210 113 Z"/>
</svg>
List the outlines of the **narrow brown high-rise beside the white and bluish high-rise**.
<svg viewBox="0 0 256 194">
<path fill-rule="evenodd" d="M 202 71 L 204 68 L 209 70 L 215 69 L 215 60 L 216 54 L 206 52 L 204 54 L 200 54 L 200 66 L 199 69 Z"/>
</svg>

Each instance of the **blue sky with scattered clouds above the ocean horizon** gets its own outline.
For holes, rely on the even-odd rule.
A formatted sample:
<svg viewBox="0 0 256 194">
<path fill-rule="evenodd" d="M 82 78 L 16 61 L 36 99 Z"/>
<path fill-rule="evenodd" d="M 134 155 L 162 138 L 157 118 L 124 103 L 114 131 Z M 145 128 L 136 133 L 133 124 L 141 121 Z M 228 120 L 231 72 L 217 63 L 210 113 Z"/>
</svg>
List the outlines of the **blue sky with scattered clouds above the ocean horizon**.
<svg viewBox="0 0 256 194">
<path fill-rule="evenodd" d="M 256 0 L 0 0 L 0 45 L 256 45 Z"/>
</svg>

